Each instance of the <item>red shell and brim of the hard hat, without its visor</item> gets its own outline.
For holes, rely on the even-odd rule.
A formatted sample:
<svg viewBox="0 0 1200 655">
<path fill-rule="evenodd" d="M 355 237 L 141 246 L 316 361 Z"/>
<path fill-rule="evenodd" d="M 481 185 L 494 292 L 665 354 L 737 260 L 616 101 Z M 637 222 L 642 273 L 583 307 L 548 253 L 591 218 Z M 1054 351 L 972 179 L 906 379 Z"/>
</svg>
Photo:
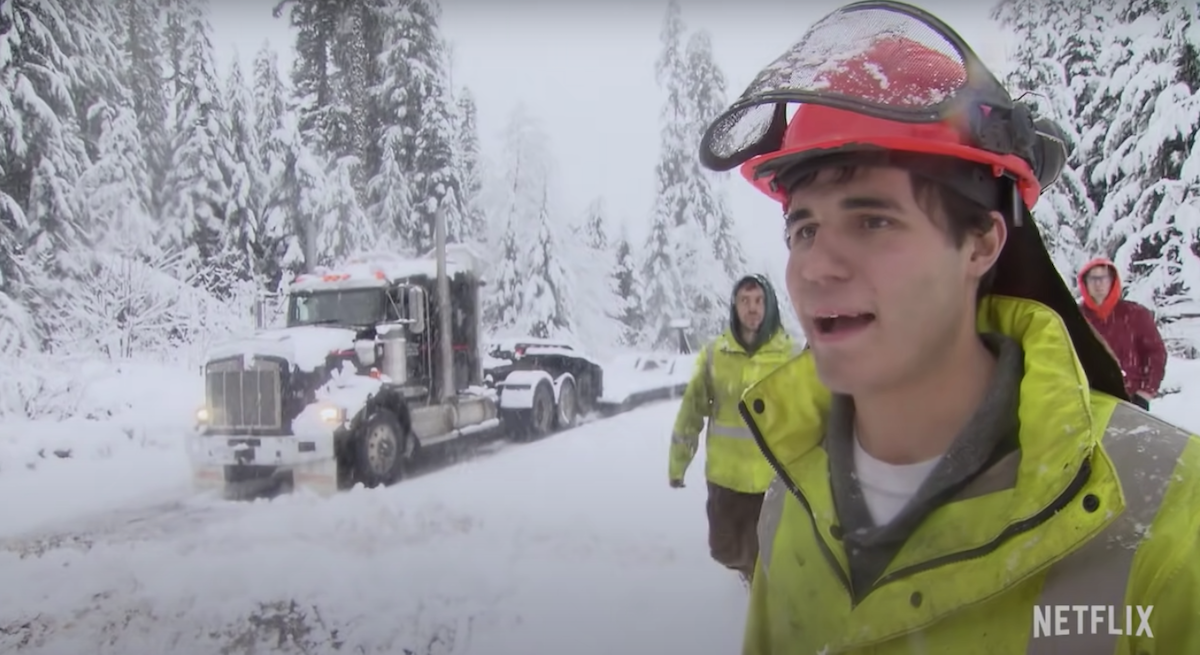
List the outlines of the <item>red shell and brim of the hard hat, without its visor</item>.
<svg viewBox="0 0 1200 655">
<path fill-rule="evenodd" d="M 823 76 L 822 91 L 842 95 L 858 102 L 872 102 L 892 108 L 928 106 L 940 94 L 950 95 L 962 88 L 967 77 L 964 65 L 941 52 L 911 38 L 880 40 L 870 48 L 839 61 Z M 964 119 L 965 120 L 965 119 Z M 970 145 L 959 121 L 906 122 L 869 116 L 821 104 L 800 104 L 784 133 L 782 146 L 751 158 L 742 166 L 742 175 L 767 196 L 787 202 L 787 190 L 774 184 L 774 172 L 760 175 L 758 168 L 779 160 L 794 162 L 833 152 L 863 150 L 899 150 L 906 152 L 958 157 L 992 167 L 1016 179 L 1021 199 L 1033 206 L 1040 185 L 1028 162 L 1016 155 L 998 155 Z M 805 156 L 809 155 L 809 156 Z M 788 162 L 791 163 L 791 162 Z"/>
</svg>

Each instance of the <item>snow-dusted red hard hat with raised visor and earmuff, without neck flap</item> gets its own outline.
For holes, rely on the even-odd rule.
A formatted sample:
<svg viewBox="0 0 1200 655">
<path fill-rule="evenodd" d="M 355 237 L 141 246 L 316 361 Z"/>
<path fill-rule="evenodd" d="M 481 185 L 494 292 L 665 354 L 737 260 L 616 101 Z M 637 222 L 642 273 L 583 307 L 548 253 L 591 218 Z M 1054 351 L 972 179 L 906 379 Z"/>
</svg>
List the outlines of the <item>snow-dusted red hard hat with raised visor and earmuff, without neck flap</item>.
<svg viewBox="0 0 1200 655">
<path fill-rule="evenodd" d="M 800 103 L 791 121 L 788 103 Z M 713 121 L 700 157 L 713 170 L 740 166 L 755 187 L 782 203 L 781 172 L 877 150 L 982 164 L 992 180 L 959 170 L 943 181 L 979 199 L 994 193 L 995 179 L 1007 178 L 1026 208 L 1066 161 L 1061 133 L 1014 102 L 962 37 L 932 14 L 889 0 L 853 2 L 812 25 Z M 1013 214 L 1019 222 L 1020 212 Z"/>
</svg>

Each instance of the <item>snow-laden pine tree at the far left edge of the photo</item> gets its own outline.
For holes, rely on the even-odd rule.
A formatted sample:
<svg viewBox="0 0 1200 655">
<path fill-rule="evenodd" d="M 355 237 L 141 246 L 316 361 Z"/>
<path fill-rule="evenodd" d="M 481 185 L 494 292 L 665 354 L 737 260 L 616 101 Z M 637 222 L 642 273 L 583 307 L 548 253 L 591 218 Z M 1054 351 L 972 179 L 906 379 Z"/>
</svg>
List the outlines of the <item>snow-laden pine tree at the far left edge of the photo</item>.
<svg viewBox="0 0 1200 655">
<path fill-rule="evenodd" d="M 53 332 L 49 302 L 82 272 L 68 257 L 80 242 L 76 187 L 89 163 L 71 95 L 85 74 L 78 52 L 60 5 L 0 6 L 0 322 L 22 343 L 35 328 L 41 339 Z"/>
</svg>

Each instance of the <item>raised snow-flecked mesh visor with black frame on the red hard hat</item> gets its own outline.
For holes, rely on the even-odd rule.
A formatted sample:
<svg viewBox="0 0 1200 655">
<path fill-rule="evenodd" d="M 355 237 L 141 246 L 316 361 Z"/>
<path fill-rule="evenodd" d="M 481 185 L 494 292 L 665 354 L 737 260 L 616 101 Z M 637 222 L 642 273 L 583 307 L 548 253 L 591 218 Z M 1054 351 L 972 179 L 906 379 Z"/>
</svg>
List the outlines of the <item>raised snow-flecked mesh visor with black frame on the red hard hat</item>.
<svg viewBox="0 0 1200 655">
<path fill-rule="evenodd" d="M 794 103 L 950 126 L 960 145 L 1008 158 L 997 166 L 1024 185 L 1027 206 L 1066 160 L 1052 124 L 1039 125 L 1014 102 L 953 29 L 901 2 L 854 2 L 818 20 L 713 121 L 701 162 L 730 170 L 811 142 L 812 134 L 799 133 L 803 126 L 788 126 L 787 106 Z"/>
</svg>

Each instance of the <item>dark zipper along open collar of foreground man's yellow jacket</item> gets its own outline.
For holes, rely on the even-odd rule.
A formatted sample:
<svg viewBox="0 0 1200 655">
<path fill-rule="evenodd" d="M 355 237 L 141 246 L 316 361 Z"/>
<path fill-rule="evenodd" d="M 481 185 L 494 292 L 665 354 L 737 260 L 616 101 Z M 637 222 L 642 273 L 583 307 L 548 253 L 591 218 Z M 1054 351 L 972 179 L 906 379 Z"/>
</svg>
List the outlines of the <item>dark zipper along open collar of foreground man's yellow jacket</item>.
<svg viewBox="0 0 1200 655">
<path fill-rule="evenodd" d="M 854 593 L 854 589 L 850 583 L 850 577 L 846 575 L 846 571 L 842 570 L 841 567 L 841 563 L 838 561 L 836 555 L 834 555 L 833 551 L 829 548 L 824 539 L 821 536 L 821 530 L 817 527 L 816 516 L 812 513 L 812 505 L 809 504 L 808 499 L 804 497 L 804 493 L 800 492 L 800 488 L 792 481 L 791 476 L 788 476 L 784 471 L 784 467 L 782 464 L 779 463 L 779 459 L 775 458 L 775 455 L 770 452 L 770 449 L 767 447 L 767 441 L 766 439 L 763 439 L 762 433 L 758 431 L 758 425 L 751 417 L 750 409 L 746 407 L 744 401 L 738 403 L 738 411 L 740 411 L 742 420 L 745 421 L 746 427 L 750 428 L 750 433 L 754 434 L 754 440 L 756 444 L 758 444 L 758 450 L 762 451 L 763 457 L 767 458 L 767 463 L 770 464 L 770 468 L 774 469 L 775 475 L 778 475 L 779 479 L 784 482 L 784 486 L 787 487 L 787 491 L 796 497 L 796 499 L 804 507 L 804 511 L 808 512 L 809 519 L 812 523 L 812 533 L 817 539 L 817 545 L 821 547 L 821 552 L 824 554 L 826 560 L 829 563 L 830 567 L 833 567 L 834 572 L 836 572 L 838 579 L 841 581 L 841 584 L 846 589 L 846 593 L 850 594 L 851 609 L 857 607 L 863 601 L 863 599 L 865 599 L 871 591 L 878 589 L 884 584 L 896 582 L 899 579 L 904 579 L 906 577 L 911 577 L 913 575 L 924 571 L 937 569 L 938 566 L 944 566 L 947 564 L 956 564 L 960 561 L 970 561 L 972 559 L 983 558 L 989 553 L 1000 548 L 1006 541 L 1037 528 L 1038 525 L 1049 521 L 1050 517 L 1062 511 L 1067 505 L 1069 505 L 1070 501 L 1074 500 L 1076 495 L 1079 495 L 1079 492 L 1082 491 L 1084 485 L 1087 483 L 1087 480 L 1091 477 L 1092 473 L 1091 456 L 1088 456 L 1084 458 L 1084 462 L 1079 467 L 1079 471 L 1075 473 L 1075 477 L 1073 477 L 1070 483 L 1067 485 L 1067 488 L 1063 489 L 1063 492 L 1058 494 L 1049 505 L 1038 511 L 1038 513 L 1028 518 L 1025 518 L 1022 521 L 1018 521 L 1016 523 L 1010 523 L 1003 530 L 1001 530 L 1001 533 L 996 536 L 996 539 L 989 541 L 988 543 L 984 543 L 983 546 L 978 546 L 968 551 L 950 553 L 948 555 L 942 555 L 938 558 L 922 561 L 919 564 L 913 564 L 912 566 L 906 566 L 904 569 L 893 571 L 877 579 L 875 584 L 865 589 L 863 594 L 859 595 Z"/>
</svg>

